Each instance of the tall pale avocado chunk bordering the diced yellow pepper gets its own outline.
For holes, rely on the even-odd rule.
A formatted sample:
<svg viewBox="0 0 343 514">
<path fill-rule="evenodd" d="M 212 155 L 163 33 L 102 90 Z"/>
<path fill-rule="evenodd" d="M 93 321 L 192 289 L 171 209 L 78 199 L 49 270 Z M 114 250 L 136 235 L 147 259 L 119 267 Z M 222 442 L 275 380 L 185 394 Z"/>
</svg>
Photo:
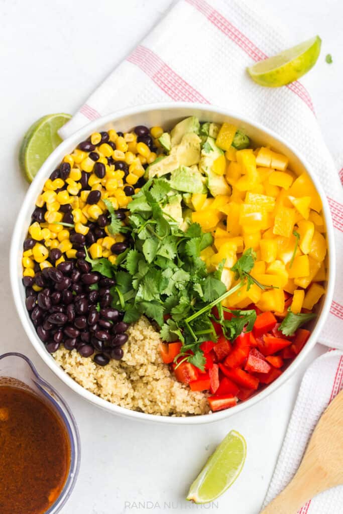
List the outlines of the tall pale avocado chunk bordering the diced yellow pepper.
<svg viewBox="0 0 343 514">
<path fill-rule="evenodd" d="M 231 188 L 226 182 L 225 178 L 221 175 L 217 175 L 212 171 L 213 162 L 223 155 L 223 150 L 216 146 L 215 141 L 212 137 L 206 139 L 203 149 L 201 151 L 201 159 L 199 168 L 202 173 L 205 173 L 208 180 L 208 189 L 212 196 L 219 194 L 230 195 Z"/>
</svg>

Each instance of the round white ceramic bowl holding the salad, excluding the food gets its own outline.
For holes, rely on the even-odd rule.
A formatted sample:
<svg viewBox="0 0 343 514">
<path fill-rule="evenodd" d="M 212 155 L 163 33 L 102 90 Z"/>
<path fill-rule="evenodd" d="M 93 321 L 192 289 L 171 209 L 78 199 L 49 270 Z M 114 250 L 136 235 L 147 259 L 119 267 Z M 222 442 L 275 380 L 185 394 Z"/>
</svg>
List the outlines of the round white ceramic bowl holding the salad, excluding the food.
<svg viewBox="0 0 343 514">
<path fill-rule="evenodd" d="M 326 219 L 327 225 L 327 239 L 329 247 L 329 278 L 327 283 L 327 293 L 322 299 L 318 310 L 318 317 L 312 326 L 311 336 L 306 342 L 304 348 L 300 354 L 294 359 L 294 361 L 288 366 L 288 368 L 282 373 L 282 375 L 266 386 L 261 391 L 257 392 L 254 396 L 244 402 L 239 402 L 236 407 L 231 409 L 219 411 L 210 415 L 201 416 L 189 416 L 189 417 L 168 417 L 168 416 L 156 416 L 153 414 L 145 414 L 141 412 L 131 411 L 118 407 L 113 403 L 99 398 L 95 394 L 87 391 L 75 382 L 67 373 L 65 373 L 55 360 L 47 353 L 44 344 L 41 342 L 37 334 L 35 333 L 34 326 L 28 316 L 25 307 L 25 291 L 22 284 L 22 251 L 23 242 L 27 234 L 28 226 L 30 224 L 31 213 L 34 209 L 35 200 L 40 194 L 45 180 L 48 178 L 50 173 L 57 168 L 61 162 L 63 156 L 72 152 L 76 146 L 86 139 L 93 132 L 99 132 L 103 130 L 109 130 L 110 128 L 116 128 L 116 130 L 131 130 L 136 125 L 148 125 L 155 126 L 161 125 L 165 130 L 170 130 L 175 123 L 180 119 L 186 118 L 187 116 L 197 116 L 202 121 L 214 121 L 214 122 L 229 122 L 234 125 L 243 128 L 244 132 L 252 139 L 257 145 L 270 145 L 272 148 L 282 154 L 285 154 L 290 159 L 290 168 L 297 174 L 303 171 L 308 172 L 312 178 L 321 198 L 323 204 L 323 213 Z M 305 192 L 304 192 L 305 193 Z M 35 350 L 42 357 L 44 362 L 49 368 L 55 373 L 63 382 L 65 382 L 71 389 L 73 389 L 80 396 L 86 400 L 94 403 L 99 407 L 102 407 L 106 411 L 120 414 L 132 419 L 141 419 L 146 421 L 155 421 L 159 423 L 175 423 L 178 425 L 191 425 L 191 424 L 203 424 L 210 423 L 212 421 L 223 419 L 236 414 L 243 409 L 254 405 L 256 402 L 262 400 L 270 393 L 273 393 L 283 382 L 285 382 L 294 371 L 298 368 L 300 362 L 305 358 L 306 354 L 309 353 L 311 348 L 317 341 L 320 329 L 326 320 L 329 313 L 330 304 L 332 301 L 333 285 L 335 278 L 335 254 L 334 254 L 334 239 L 333 239 L 333 226 L 330 215 L 330 209 L 327 198 L 321 188 L 321 185 L 309 166 L 308 163 L 298 154 L 298 152 L 287 144 L 281 137 L 274 134 L 272 131 L 267 130 L 260 123 L 254 121 L 248 121 L 242 119 L 238 114 L 227 111 L 220 107 L 213 107 L 202 104 L 191 104 L 191 103 L 160 103 L 153 105 L 145 105 L 140 107 L 131 107 L 124 109 L 118 113 L 109 114 L 102 118 L 99 118 L 92 123 L 87 124 L 81 128 L 74 135 L 66 139 L 60 146 L 52 152 L 48 159 L 44 162 L 39 173 L 33 180 L 26 196 L 23 201 L 22 208 L 17 221 L 15 224 L 11 249 L 10 249 L 10 277 L 13 291 L 13 297 L 15 305 L 19 314 L 19 318 L 24 326 L 25 332 L 30 339 Z"/>
</svg>

